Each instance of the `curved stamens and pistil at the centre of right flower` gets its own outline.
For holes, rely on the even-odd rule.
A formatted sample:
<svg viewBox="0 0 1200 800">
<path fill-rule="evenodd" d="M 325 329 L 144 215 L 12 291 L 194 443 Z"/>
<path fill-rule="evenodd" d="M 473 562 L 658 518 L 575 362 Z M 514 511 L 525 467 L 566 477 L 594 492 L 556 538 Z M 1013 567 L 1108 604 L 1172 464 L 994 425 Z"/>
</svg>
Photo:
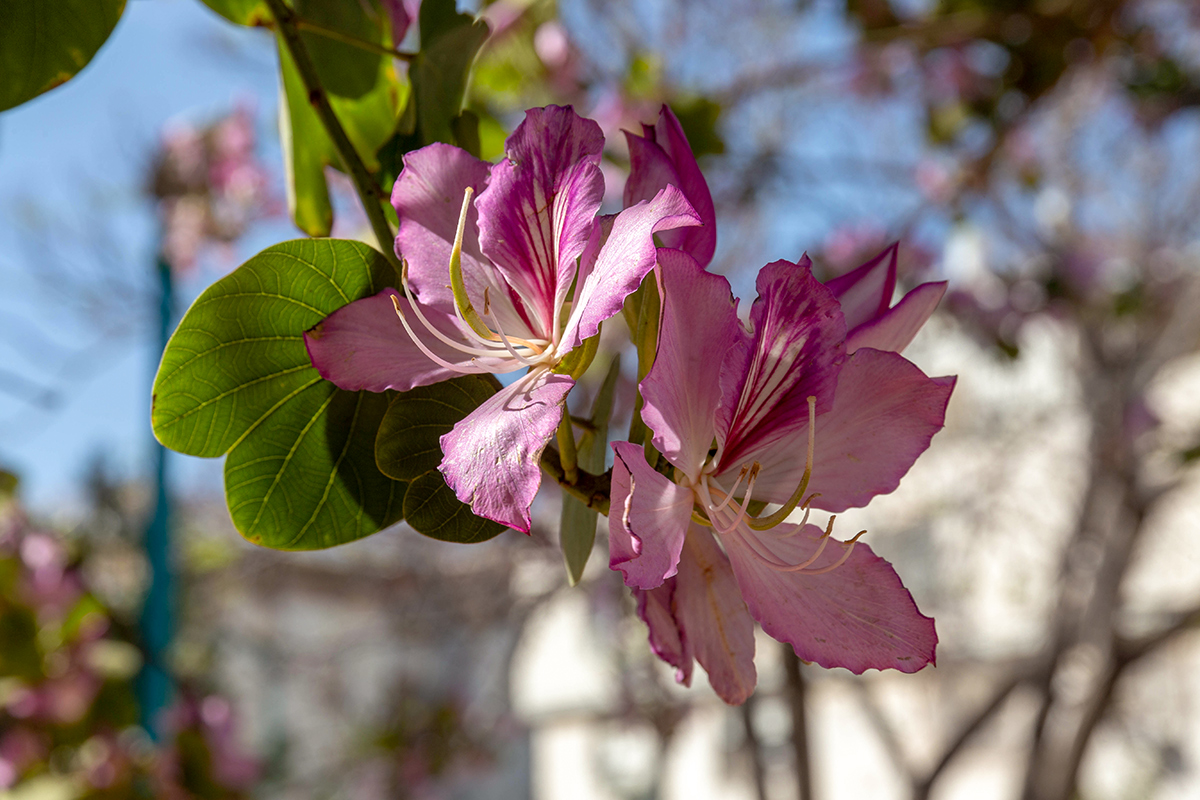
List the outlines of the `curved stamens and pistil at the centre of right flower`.
<svg viewBox="0 0 1200 800">
<path fill-rule="evenodd" d="M 808 399 L 808 459 L 804 464 L 804 475 L 800 479 L 800 483 L 796 487 L 796 491 L 792 493 L 792 497 L 788 498 L 787 503 L 785 503 L 778 511 L 766 517 L 751 513 L 750 507 L 754 503 L 754 485 L 755 481 L 758 480 L 758 474 L 762 471 L 762 464 L 758 462 L 743 464 L 742 470 L 733 481 L 733 485 L 726 489 L 714 476 L 716 473 L 716 464 L 709 462 L 706 464 L 704 469 L 701 470 L 700 479 L 692 483 L 692 492 L 696 495 L 700 511 L 692 511 L 691 516 L 695 522 L 710 527 L 722 537 L 730 536 L 738 539 L 756 560 L 766 564 L 773 570 L 778 570 L 780 572 L 799 572 L 802 575 L 823 575 L 826 572 L 833 572 L 846 563 L 850 554 L 853 553 L 854 545 L 858 542 L 859 537 L 866 533 L 865 530 L 859 531 L 850 541 L 838 542 L 838 540 L 832 539 L 833 523 L 838 518 L 836 515 L 833 515 L 829 517 L 829 524 L 826 525 L 824 535 L 821 536 L 820 545 L 812 555 L 796 564 L 781 561 L 769 552 L 764 552 L 763 545 L 757 535 L 758 533 L 770 531 L 779 539 L 797 536 L 804 530 L 804 527 L 809 522 L 810 504 L 817 497 L 816 494 L 810 494 L 806 499 L 804 499 L 804 493 L 809 487 L 809 480 L 812 477 L 812 456 L 816 444 L 816 397 L 809 397 Z M 745 480 L 745 488 L 740 489 L 739 494 L 743 480 Z M 740 499 L 738 499 L 739 497 Z M 804 509 L 804 518 L 800 521 L 799 525 L 786 534 L 775 531 L 774 529 L 782 524 L 798 507 Z M 827 566 L 814 567 L 812 565 L 821 558 L 822 553 L 824 553 L 826 546 L 830 541 L 834 541 L 845 548 L 841 558 Z"/>
</svg>

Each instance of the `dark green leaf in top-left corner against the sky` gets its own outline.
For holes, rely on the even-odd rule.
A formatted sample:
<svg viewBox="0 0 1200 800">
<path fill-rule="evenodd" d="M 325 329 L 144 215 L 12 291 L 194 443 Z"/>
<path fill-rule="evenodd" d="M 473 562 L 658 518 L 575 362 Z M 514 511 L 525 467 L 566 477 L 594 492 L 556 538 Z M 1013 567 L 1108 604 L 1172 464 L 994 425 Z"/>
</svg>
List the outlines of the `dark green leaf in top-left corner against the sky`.
<svg viewBox="0 0 1200 800">
<path fill-rule="evenodd" d="M 125 0 L 5 0 L 0 8 L 0 112 L 49 91 L 88 66 Z"/>
</svg>

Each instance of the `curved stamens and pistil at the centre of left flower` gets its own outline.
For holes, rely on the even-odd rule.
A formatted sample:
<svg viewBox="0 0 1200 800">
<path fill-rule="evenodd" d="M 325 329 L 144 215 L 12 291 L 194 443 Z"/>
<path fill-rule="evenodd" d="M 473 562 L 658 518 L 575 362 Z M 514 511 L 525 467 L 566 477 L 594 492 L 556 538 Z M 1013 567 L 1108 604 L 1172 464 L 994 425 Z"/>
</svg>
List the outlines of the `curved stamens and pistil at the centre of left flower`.
<svg viewBox="0 0 1200 800">
<path fill-rule="evenodd" d="M 421 312 L 420 305 L 413 296 L 412 288 L 408 285 L 408 261 L 401 259 L 400 281 L 404 289 L 404 297 L 408 300 L 409 308 L 428 335 L 433 336 L 433 338 L 452 350 L 469 355 L 469 365 L 474 365 L 478 359 L 502 360 L 499 362 L 485 365 L 484 368 L 487 372 L 503 374 L 508 372 L 516 372 L 517 369 L 522 369 L 524 367 L 553 363 L 557 359 L 554 357 L 552 348 L 550 348 L 551 343 L 546 339 L 524 339 L 516 336 L 508 336 L 504 332 L 504 329 L 500 326 L 499 318 L 492 311 L 488 288 L 484 288 L 482 317 L 480 317 L 479 312 L 475 311 L 475 307 L 470 302 L 470 297 L 467 295 L 467 284 L 462 277 L 462 235 L 467 225 L 467 211 L 470 210 L 472 193 L 473 191 L 468 186 L 462 198 L 462 211 L 458 213 L 458 230 L 455 233 L 454 248 L 450 251 L 450 289 L 454 291 L 455 315 L 461 323 L 460 330 L 463 336 L 466 336 L 466 341 L 446 336 L 425 317 Z M 478 367 L 452 363 L 433 353 L 416 335 L 416 331 L 413 330 L 404 311 L 401 308 L 400 299 L 396 297 L 396 295 L 391 296 L 391 305 L 396 308 L 396 317 L 400 318 L 408 337 L 413 339 L 413 343 L 418 347 L 418 349 L 420 349 L 421 353 L 425 354 L 426 357 L 438 366 L 450 369 L 451 372 L 479 372 Z"/>
</svg>

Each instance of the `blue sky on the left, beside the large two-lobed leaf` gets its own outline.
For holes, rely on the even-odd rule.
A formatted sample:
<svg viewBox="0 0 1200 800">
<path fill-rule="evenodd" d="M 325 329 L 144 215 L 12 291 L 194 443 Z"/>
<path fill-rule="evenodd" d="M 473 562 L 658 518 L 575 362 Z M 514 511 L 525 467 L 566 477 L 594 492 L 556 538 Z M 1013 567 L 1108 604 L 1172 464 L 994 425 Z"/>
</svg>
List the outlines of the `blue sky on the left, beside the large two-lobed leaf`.
<svg viewBox="0 0 1200 800">
<path fill-rule="evenodd" d="M 164 125 L 239 101 L 257 108 L 277 175 L 275 70 L 265 31 L 196 0 L 131 0 L 76 79 L 0 114 L 0 467 L 20 476 L 35 510 L 78 507 L 97 455 L 126 477 L 148 469 L 154 332 L 145 297 L 124 290 L 154 264 L 140 187 Z M 292 235 L 282 223 L 252 231 L 242 255 Z M 50 407 L 30 402 L 42 390 Z M 179 481 L 218 488 L 218 462 L 174 464 Z"/>
</svg>

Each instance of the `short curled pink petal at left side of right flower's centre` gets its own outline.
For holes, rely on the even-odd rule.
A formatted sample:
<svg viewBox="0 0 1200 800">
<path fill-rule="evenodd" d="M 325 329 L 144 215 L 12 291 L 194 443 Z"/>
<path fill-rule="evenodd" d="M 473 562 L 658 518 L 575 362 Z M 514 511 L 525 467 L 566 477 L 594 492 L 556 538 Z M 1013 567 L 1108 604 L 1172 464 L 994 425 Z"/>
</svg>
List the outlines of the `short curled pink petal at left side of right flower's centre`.
<svg viewBox="0 0 1200 800">
<path fill-rule="evenodd" d="M 646 463 L 640 446 L 614 441 L 608 510 L 608 566 L 625 585 L 653 589 L 673 576 L 694 504 L 691 489 Z"/>
</svg>

